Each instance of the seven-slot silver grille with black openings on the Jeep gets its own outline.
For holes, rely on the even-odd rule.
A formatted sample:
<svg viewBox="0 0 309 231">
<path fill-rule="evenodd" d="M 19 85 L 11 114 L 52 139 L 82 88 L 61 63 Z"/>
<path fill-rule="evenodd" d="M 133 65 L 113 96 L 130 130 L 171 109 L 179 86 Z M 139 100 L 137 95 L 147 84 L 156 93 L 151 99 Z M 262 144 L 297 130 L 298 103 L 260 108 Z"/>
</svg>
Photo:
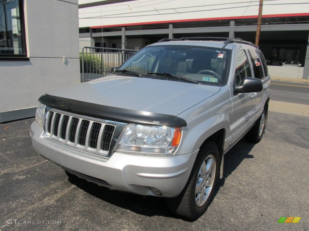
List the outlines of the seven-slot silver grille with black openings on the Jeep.
<svg viewBox="0 0 309 231">
<path fill-rule="evenodd" d="M 48 111 L 45 134 L 53 140 L 107 156 L 115 126 Z"/>
</svg>

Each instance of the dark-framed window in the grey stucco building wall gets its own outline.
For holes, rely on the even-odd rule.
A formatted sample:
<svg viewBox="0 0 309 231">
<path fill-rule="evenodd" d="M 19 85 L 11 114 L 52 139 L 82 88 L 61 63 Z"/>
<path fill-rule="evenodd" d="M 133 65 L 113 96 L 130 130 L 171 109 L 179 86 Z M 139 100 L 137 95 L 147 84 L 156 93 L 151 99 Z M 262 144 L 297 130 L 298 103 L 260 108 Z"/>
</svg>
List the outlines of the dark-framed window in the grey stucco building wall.
<svg viewBox="0 0 309 231">
<path fill-rule="evenodd" d="M 0 57 L 25 57 L 21 0 L 0 0 Z"/>
</svg>

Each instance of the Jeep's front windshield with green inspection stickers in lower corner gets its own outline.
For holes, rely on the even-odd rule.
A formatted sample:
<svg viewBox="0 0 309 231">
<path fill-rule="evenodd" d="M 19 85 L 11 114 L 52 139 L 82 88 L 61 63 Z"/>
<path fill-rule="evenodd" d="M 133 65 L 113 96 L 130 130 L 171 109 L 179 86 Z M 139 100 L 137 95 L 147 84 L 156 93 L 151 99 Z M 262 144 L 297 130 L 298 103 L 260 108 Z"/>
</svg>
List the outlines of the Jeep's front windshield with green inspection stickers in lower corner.
<svg viewBox="0 0 309 231">
<path fill-rule="evenodd" d="M 191 83 L 222 86 L 227 81 L 230 56 L 230 50 L 212 47 L 150 46 L 138 51 L 117 71 L 134 71 L 142 77 L 175 81 L 186 78 L 193 80 Z M 171 75 L 183 78 L 168 78 Z"/>
</svg>

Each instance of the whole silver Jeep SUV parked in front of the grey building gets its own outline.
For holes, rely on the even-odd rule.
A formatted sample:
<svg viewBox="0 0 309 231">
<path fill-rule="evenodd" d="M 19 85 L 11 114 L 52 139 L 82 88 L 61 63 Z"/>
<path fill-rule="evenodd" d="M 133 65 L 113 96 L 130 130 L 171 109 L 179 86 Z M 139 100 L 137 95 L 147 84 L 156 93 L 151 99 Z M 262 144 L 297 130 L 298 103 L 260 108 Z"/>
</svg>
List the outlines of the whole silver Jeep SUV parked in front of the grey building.
<svg viewBox="0 0 309 231">
<path fill-rule="evenodd" d="M 162 39 L 90 82 L 42 95 L 33 148 L 111 189 L 166 197 L 200 217 L 224 154 L 264 133 L 271 80 L 261 51 L 241 39 Z"/>
</svg>

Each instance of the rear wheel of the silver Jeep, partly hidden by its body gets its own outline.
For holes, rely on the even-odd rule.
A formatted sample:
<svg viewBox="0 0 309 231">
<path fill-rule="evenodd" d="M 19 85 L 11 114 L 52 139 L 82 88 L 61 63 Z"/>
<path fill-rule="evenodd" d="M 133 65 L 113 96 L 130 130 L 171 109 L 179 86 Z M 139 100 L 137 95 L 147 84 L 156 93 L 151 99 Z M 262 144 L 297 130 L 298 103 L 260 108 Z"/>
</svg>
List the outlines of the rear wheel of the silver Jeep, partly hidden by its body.
<svg viewBox="0 0 309 231">
<path fill-rule="evenodd" d="M 260 118 L 256 121 L 253 127 L 245 135 L 245 138 L 248 142 L 257 144 L 262 140 L 267 125 L 267 116 L 268 116 L 268 105 L 266 104 L 264 106 L 264 110 Z"/>
</svg>

